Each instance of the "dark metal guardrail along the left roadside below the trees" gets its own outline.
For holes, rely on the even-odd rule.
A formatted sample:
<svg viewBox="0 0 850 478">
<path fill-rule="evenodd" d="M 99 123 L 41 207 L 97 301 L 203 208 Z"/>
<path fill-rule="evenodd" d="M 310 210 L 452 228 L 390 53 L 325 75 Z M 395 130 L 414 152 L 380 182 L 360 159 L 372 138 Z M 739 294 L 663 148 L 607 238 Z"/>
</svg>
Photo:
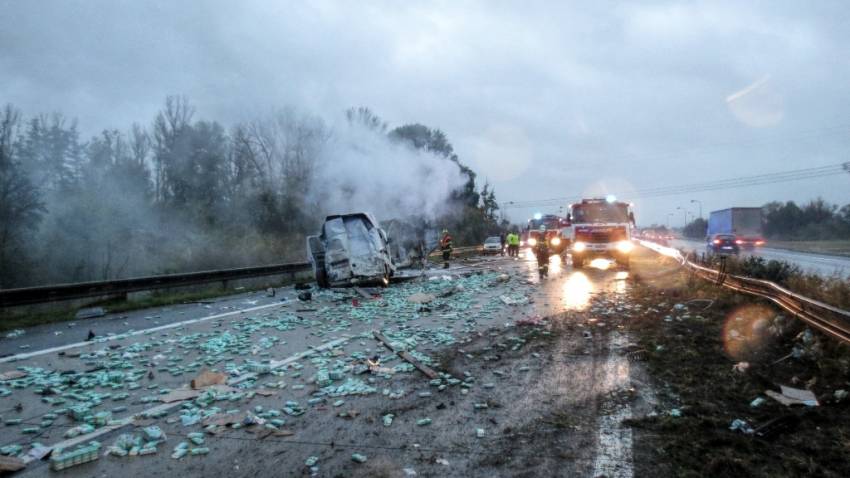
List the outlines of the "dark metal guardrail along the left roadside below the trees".
<svg viewBox="0 0 850 478">
<path fill-rule="evenodd" d="M 166 274 L 101 282 L 80 282 L 76 284 L 5 289 L 0 290 L 0 308 L 84 299 L 88 297 L 120 295 L 128 292 L 191 286 L 277 274 L 290 274 L 310 269 L 311 265 L 309 262 L 293 262 L 269 266 L 189 272 L 185 274 Z"/>
</svg>

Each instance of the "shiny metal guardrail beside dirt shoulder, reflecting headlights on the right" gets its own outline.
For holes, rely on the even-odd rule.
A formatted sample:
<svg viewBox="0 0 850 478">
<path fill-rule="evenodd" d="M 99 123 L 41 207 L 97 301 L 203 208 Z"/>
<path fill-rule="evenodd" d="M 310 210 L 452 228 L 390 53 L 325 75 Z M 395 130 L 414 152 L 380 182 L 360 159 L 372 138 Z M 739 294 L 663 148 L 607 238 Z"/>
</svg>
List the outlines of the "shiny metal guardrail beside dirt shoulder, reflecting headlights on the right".
<svg viewBox="0 0 850 478">
<path fill-rule="evenodd" d="M 690 268 L 703 279 L 738 292 L 767 299 L 811 327 L 850 343 L 850 311 L 811 299 L 767 280 L 727 274 L 722 268 L 717 270 L 706 267 L 682 256 L 676 249 L 646 241 L 640 241 L 640 243 L 659 254 L 680 260 L 683 266 Z M 675 251 L 675 254 L 671 251 Z"/>
</svg>

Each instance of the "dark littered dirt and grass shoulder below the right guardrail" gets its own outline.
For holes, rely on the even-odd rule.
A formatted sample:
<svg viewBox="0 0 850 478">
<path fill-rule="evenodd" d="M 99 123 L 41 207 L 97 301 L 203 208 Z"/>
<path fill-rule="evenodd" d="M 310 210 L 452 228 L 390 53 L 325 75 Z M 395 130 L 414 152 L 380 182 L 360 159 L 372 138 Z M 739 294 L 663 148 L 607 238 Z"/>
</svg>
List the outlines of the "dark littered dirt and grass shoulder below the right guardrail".
<svg viewBox="0 0 850 478">
<path fill-rule="evenodd" d="M 629 330 L 665 410 L 630 421 L 637 476 L 850 476 L 847 346 L 684 273 L 633 295 L 647 313 Z M 779 385 L 820 406 L 781 405 L 765 394 Z M 735 420 L 764 436 L 730 430 Z"/>
</svg>

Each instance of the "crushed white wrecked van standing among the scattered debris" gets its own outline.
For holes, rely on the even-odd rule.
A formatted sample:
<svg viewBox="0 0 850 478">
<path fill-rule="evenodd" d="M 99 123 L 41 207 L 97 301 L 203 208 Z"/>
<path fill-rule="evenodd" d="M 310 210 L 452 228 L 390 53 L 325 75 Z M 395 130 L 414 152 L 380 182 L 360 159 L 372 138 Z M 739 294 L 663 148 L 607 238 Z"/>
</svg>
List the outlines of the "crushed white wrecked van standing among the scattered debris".
<svg viewBox="0 0 850 478">
<path fill-rule="evenodd" d="M 371 214 L 328 216 L 318 235 L 307 236 L 307 256 L 319 287 L 386 285 L 396 266 L 387 234 Z"/>
</svg>

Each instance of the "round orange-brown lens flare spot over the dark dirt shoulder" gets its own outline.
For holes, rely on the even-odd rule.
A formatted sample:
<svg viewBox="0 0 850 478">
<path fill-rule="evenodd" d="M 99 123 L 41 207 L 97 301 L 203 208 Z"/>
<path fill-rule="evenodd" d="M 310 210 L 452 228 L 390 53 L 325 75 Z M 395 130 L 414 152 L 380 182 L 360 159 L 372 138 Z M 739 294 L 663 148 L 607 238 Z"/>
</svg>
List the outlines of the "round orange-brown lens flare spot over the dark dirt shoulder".
<svg viewBox="0 0 850 478">
<path fill-rule="evenodd" d="M 723 349 L 735 360 L 745 360 L 770 344 L 768 327 L 776 315 L 770 307 L 746 304 L 733 310 L 723 325 Z"/>
</svg>

